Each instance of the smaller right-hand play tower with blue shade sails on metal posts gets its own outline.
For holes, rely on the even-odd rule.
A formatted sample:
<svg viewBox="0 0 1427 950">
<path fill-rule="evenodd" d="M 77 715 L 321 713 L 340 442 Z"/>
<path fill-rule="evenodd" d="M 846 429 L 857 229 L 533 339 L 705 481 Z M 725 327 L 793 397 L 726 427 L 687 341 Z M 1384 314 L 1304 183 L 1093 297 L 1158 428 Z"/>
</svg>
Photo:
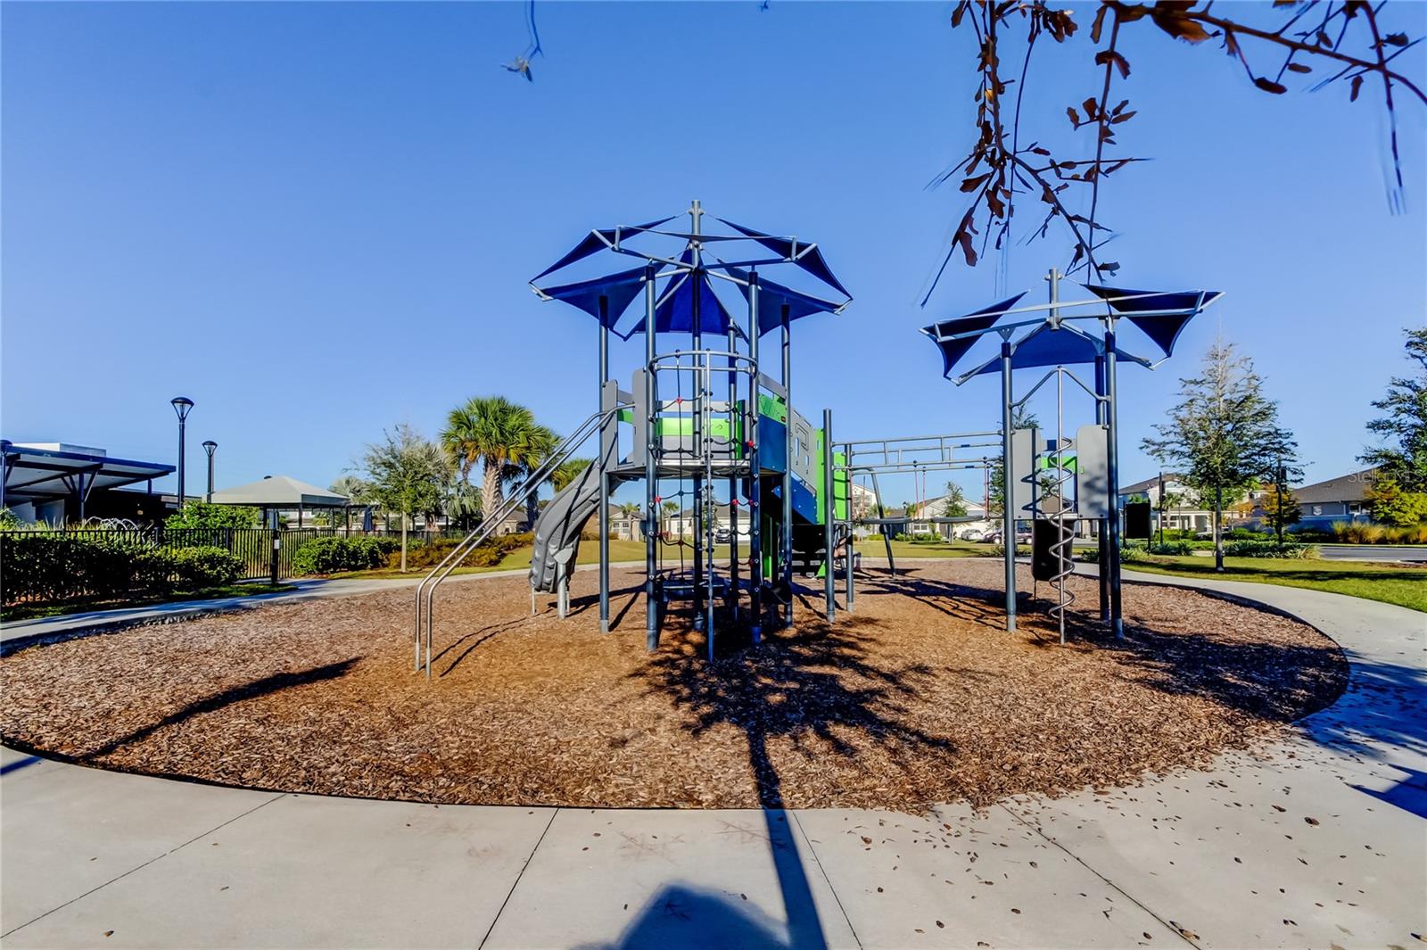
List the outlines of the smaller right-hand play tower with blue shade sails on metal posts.
<svg viewBox="0 0 1427 950">
<path fill-rule="evenodd" d="M 1055 466 L 1059 485 L 1066 481 L 1066 449 L 1063 438 L 1063 384 L 1069 377 L 1085 389 L 1096 405 L 1096 424 L 1104 427 L 1106 462 L 1107 462 L 1107 492 L 1110 498 L 1106 518 L 1102 519 L 1100 531 L 1100 613 L 1102 619 L 1110 623 L 1116 638 L 1123 636 L 1123 615 L 1120 611 L 1120 525 L 1119 525 L 1119 474 L 1117 474 L 1117 411 L 1116 411 L 1116 371 L 1120 359 L 1153 369 L 1167 359 L 1179 339 L 1184 325 L 1189 324 L 1206 307 L 1222 297 L 1220 291 L 1143 291 L 1100 284 L 1085 284 L 1090 297 L 1086 300 L 1060 300 L 1062 274 L 1052 270 L 1047 281 L 1050 297 L 1045 304 L 1019 305 L 1029 291 L 1023 291 L 1007 300 L 989 307 L 975 310 L 962 317 L 945 320 L 930 327 L 923 327 L 922 332 L 936 344 L 942 354 L 942 375 L 952 379 L 958 365 L 970 354 L 982 337 L 995 334 L 1000 339 L 1000 354 L 955 377 L 953 382 L 962 385 L 977 375 L 1000 372 L 1002 378 L 1002 458 L 1005 464 L 1003 489 L 1006 504 L 1003 505 L 1006 538 L 1006 629 L 1016 629 L 1016 521 L 1017 512 L 1010 504 L 1013 494 L 1015 472 L 1012 461 L 1012 414 L 1052 377 L 1056 379 L 1057 422 Z M 1119 321 L 1127 321 L 1143 332 L 1154 347 L 1163 354 L 1159 359 L 1149 359 L 1122 349 L 1117 341 Z M 1077 321 L 1090 324 L 1090 328 L 1075 325 Z M 1095 332 L 1099 331 L 1099 332 Z M 1075 375 L 1069 367 L 1093 365 L 1095 384 L 1086 385 Z M 1016 369 L 1049 368 L 1042 378 L 1035 382 L 1019 399 L 1012 385 L 1012 374 Z M 1035 441 L 1035 439 L 1033 439 Z M 1032 449 L 1032 456 L 1036 449 Z M 1035 476 L 1032 476 L 1035 478 Z M 1065 506 L 1063 494 L 1057 495 L 1056 531 L 1063 532 L 1066 518 L 1072 516 Z M 1057 536 L 1055 545 L 1056 558 L 1062 573 L 1062 599 L 1059 605 L 1062 638 L 1065 623 L 1065 586 L 1063 578 L 1067 573 L 1069 541 Z"/>
</svg>

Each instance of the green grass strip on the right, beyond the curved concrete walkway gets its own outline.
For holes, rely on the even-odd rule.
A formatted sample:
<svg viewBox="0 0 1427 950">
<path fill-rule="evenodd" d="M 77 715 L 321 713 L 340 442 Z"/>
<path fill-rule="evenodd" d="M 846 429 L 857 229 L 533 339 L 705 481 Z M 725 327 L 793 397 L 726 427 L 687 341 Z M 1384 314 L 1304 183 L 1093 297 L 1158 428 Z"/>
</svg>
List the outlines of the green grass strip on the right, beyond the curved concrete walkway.
<svg viewBox="0 0 1427 950">
<path fill-rule="evenodd" d="M 1190 555 L 1154 556 L 1146 561 L 1126 562 L 1124 569 L 1180 578 L 1223 578 L 1224 581 L 1310 588 L 1397 603 L 1414 611 L 1427 611 L 1427 569 L 1424 568 L 1354 561 L 1224 558 L 1224 571 L 1219 573 L 1214 571 L 1213 558 Z"/>
</svg>

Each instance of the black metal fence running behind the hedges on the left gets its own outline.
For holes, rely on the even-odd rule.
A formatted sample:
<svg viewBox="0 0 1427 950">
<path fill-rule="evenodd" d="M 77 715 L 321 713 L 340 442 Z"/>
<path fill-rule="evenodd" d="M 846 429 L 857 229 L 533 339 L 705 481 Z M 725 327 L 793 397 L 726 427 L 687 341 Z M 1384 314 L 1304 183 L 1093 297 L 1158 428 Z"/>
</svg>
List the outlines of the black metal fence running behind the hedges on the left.
<svg viewBox="0 0 1427 950">
<path fill-rule="evenodd" d="M 278 536 L 281 545 L 277 549 L 277 578 L 285 581 L 293 576 L 293 555 L 304 542 L 313 538 L 340 535 L 350 538 L 400 538 L 401 531 L 347 531 L 344 528 L 285 528 L 273 531 L 271 528 L 64 528 L 40 531 L 0 531 L 0 548 L 3 542 L 13 536 L 23 535 L 51 535 L 66 538 L 83 538 L 87 541 L 128 541 L 150 543 L 168 551 L 180 548 L 213 546 L 237 555 L 243 561 L 240 581 L 264 581 L 273 576 L 273 541 Z M 440 538 L 464 538 L 459 531 L 408 531 L 410 545 L 422 543 Z"/>
</svg>

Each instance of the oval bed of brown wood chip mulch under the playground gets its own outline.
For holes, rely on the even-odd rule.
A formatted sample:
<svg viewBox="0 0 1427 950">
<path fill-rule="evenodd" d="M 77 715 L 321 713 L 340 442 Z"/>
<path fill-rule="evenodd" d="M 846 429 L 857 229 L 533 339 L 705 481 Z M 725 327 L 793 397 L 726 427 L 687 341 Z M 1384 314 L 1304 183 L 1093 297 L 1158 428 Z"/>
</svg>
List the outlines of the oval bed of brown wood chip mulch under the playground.
<svg viewBox="0 0 1427 950">
<path fill-rule="evenodd" d="M 1086 579 L 1069 646 L 1046 601 L 1026 598 L 1006 633 L 999 572 L 875 569 L 831 629 L 805 591 L 792 630 L 712 665 L 692 630 L 645 652 L 632 572 L 614 572 L 604 636 L 592 572 L 575 575 L 564 622 L 548 602 L 529 616 L 524 578 L 451 583 L 431 683 L 411 669 L 410 591 L 264 606 L 16 652 L 0 660 L 0 735 L 107 769 L 288 792 L 918 810 L 1204 766 L 1347 680 L 1317 630 L 1189 591 L 1126 585 L 1119 645 Z"/>
</svg>

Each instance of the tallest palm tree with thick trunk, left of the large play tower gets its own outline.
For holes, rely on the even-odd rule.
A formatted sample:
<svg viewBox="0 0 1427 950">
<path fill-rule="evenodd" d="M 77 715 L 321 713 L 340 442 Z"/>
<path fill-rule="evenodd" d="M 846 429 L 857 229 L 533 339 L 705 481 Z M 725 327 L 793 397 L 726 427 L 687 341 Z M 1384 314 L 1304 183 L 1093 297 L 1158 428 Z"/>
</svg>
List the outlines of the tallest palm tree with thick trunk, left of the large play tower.
<svg viewBox="0 0 1427 950">
<path fill-rule="evenodd" d="M 527 476 L 555 448 L 555 434 L 505 397 L 472 397 L 447 415 L 441 444 L 457 459 L 461 481 L 481 466 L 481 512 L 494 516 L 508 481 Z M 534 496 L 532 496 L 534 501 Z"/>
</svg>

